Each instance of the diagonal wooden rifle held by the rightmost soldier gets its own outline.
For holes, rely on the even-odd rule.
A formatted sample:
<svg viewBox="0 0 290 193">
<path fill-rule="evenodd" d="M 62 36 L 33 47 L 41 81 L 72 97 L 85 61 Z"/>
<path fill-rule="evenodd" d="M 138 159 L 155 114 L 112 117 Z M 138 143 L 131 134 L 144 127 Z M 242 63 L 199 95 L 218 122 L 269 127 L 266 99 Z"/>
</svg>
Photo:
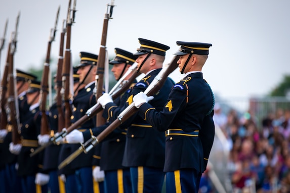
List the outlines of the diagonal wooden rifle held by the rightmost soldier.
<svg viewBox="0 0 290 193">
<path fill-rule="evenodd" d="M 171 63 L 167 66 L 164 66 L 162 70 L 157 74 L 154 80 L 150 83 L 144 93 L 147 96 L 152 96 L 159 91 L 159 89 L 164 84 L 166 78 L 171 74 L 177 67 L 177 61 L 179 57 L 175 56 Z M 97 146 L 108 134 L 110 134 L 115 128 L 117 128 L 123 121 L 129 119 L 132 115 L 134 115 L 138 109 L 134 106 L 135 103 L 131 103 L 125 110 L 123 110 L 116 120 L 114 120 L 105 130 L 103 130 L 98 136 L 92 136 L 89 140 L 87 140 L 84 144 L 72 153 L 69 157 L 67 157 L 63 162 L 58 166 L 59 169 L 63 168 L 67 164 L 69 164 L 72 160 L 74 160 L 79 154 L 82 152 L 88 153 L 92 148 Z"/>
</svg>

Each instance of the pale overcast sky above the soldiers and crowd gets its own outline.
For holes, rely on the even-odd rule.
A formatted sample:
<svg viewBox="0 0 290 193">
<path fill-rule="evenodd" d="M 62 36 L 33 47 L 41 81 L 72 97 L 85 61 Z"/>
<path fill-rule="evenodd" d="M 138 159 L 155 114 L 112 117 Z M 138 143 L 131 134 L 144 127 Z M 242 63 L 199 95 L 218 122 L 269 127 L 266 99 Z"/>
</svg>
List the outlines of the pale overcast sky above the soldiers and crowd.
<svg viewBox="0 0 290 193">
<path fill-rule="evenodd" d="M 73 62 L 81 51 L 99 54 L 106 4 L 110 1 L 77 1 L 72 26 Z M 212 43 L 203 76 L 220 97 L 263 96 L 290 74 L 290 1 L 288 0 L 115 0 L 109 21 L 107 50 L 136 52 L 138 38 L 167 44 L 166 62 L 179 49 L 176 41 Z M 9 19 L 6 39 L 15 28 L 21 12 L 15 68 L 43 68 L 56 12 L 60 18 L 52 43 L 51 68 L 56 68 L 62 20 L 66 19 L 68 0 L 0 0 L 0 37 Z M 1 53 L 1 74 L 7 55 Z M 178 81 L 182 75 L 175 71 Z M 41 77 L 39 77 L 40 79 Z"/>
</svg>

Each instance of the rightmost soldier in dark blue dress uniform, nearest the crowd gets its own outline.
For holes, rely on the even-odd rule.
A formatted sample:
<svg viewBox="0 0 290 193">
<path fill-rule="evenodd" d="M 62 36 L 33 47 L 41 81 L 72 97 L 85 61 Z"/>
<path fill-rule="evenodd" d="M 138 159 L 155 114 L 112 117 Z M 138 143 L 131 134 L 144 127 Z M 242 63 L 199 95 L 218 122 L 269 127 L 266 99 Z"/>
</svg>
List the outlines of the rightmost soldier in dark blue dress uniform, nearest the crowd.
<svg viewBox="0 0 290 193">
<path fill-rule="evenodd" d="M 175 53 L 185 77 L 175 84 L 162 111 L 147 102 L 152 96 L 134 96 L 139 115 L 158 131 L 166 131 L 165 165 L 167 192 L 198 192 L 202 172 L 214 141 L 214 94 L 201 69 L 210 43 L 177 41 Z M 155 96 L 154 96 L 155 97 Z"/>
</svg>

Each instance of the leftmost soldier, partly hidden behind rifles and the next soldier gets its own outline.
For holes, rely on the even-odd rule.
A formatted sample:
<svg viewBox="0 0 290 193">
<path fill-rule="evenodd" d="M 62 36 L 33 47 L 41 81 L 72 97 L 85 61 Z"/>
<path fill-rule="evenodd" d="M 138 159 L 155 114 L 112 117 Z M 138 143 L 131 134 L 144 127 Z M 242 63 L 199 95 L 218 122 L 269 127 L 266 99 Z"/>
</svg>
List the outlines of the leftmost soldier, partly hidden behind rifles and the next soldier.
<svg viewBox="0 0 290 193">
<path fill-rule="evenodd" d="M 33 74 L 24 72 L 22 70 L 16 69 L 16 89 L 18 94 L 18 109 L 19 109 L 19 122 L 24 121 L 23 116 L 29 112 L 29 105 L 27 104 L 26 90 L 29 87 L 29 81 L 35 80 L 37 77 Z M 1 188 L 5 187 L 5 192 L 21 192 L 20 179 L 17 176 L 16 163 L 17 155 L 12 154 L 9 151 L 9 144 L 12 141 L 12 130 L 11 125 L 8 123 L 8 129 L 4 130 L 6 132 L 3 139 L 3 152 L 1 153 L 2 160 L 5 164 L 5 180 L 2 180 L 3 185 Z M 0 182 L 1 183 L 1 182 Z"/>
</svg>

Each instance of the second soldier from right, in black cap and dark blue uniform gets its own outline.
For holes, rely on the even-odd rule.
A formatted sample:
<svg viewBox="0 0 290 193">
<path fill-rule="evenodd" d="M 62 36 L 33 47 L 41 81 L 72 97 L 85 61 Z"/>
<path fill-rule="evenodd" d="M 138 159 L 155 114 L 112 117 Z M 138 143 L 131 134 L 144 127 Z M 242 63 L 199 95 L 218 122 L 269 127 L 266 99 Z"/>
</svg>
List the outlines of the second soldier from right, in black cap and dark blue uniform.
<svg viewBox="0 0 290 193">
<path fill-rule="evenodd" d="M 133 96 L 148 87 L 162 69 L 165 52 L 170 49 L 167 45 L 143 38 L 139 38 L 139 42 L 141 46 L 134 55 L 138 57 L 136 62 L 139 72 L 145 76 L 130 90 L 125 105 L 117 106 L 107 93 L 98 99 L 105 107 L 104 112 L 107 112 L 108 119 L 115 120 L 119 113 L 133 102 Z M 163 108 L 173 84 L 168 78 L 155 95 L 151 104 L 156 109 Z M 154 130 L 137 114 L 122 123 L 122 126 L 128 126 L 122 165 L 130 167 L 133 192 L 161 192 L 164 181 L 164 133 Z"/>
</svg>

